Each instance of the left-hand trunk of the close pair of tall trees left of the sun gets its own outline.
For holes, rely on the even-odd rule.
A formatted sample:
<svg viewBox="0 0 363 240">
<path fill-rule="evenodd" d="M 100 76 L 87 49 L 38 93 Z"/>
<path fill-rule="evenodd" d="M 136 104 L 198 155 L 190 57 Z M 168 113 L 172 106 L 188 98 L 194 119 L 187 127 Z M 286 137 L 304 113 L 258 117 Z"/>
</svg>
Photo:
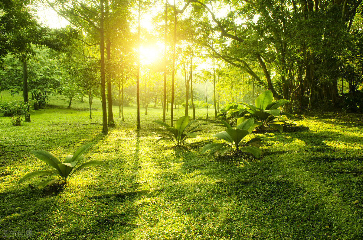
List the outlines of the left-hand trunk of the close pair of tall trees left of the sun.
<svg viewBox="0 0 363 240">
<path fill-rule="evenodd" d="M 100 26 L 99 26 L 99 33 L 100 33 L 100 55 L 101 55 L 101 102 L 102 102 L 102 133 L 108 134 L 109 129 L 107 126 L 107 106 L 106 106 L 106 79 L 105 79 L 105 37 L 103 36 L 103 0 L 99 1 L 101 5 L 101 19 L 100 19 Z"/>
</svg>

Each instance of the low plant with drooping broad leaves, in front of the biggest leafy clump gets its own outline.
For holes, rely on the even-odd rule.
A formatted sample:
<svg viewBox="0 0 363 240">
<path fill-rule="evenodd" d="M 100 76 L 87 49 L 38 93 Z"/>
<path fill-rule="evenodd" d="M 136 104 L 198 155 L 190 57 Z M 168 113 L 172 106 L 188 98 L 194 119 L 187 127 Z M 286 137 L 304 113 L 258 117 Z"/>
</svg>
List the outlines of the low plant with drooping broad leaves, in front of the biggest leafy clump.
<svg viewBox="0 0 363 240">
<path fill-rule="evenodd" d="M 252 153 L 256 158 L 261 156 L 260 146 L 264 144 L 269 138 L 254 137 L 248 141 L 244 141 L 244 137 L 251 133 L 251 129 L 254 126 L 254 119 L 250 118 L 241 124 L 237 125 L 236 128 L 232 128 L 230 124 L 221 120 L 222 123 L 227 127 L 225 131 L 216 133 L 212 137 L 216 137 L 227 141 L 228 143 L 211 143 L 207 144 L 201 150 L 201 153 L 207 153 L 207 157 L 220 157 L 226 156 L 228 153 L 234 153 L 238 155 L 239 153 Z"/>
</svg>

